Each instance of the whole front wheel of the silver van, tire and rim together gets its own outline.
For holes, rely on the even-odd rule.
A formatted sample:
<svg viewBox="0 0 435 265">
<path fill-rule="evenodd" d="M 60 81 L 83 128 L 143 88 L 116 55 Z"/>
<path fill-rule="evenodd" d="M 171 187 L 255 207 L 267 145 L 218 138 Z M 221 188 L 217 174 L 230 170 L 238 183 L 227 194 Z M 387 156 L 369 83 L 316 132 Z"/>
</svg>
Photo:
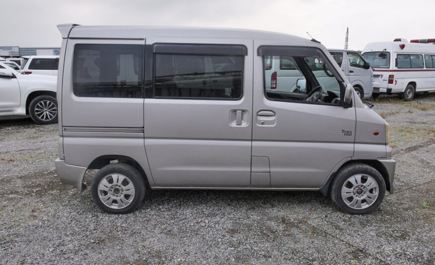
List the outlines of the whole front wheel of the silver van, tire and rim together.
<svg viewBox="0 0 435 265">
<path fill-rule="evenodd" d="M 354 163 L 341 168 L 332 181 L 331 199 L 350 214 L 376 210 L 385 196 L 385 181 L 375 168 Z"/>
</svg>

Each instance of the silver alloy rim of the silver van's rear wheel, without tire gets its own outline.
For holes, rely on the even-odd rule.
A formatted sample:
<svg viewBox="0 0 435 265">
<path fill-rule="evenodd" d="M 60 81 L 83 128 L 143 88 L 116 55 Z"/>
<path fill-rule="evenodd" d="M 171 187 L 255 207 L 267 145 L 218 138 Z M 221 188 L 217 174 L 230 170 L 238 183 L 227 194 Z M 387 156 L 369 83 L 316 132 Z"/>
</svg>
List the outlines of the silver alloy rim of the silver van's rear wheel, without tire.
<svg viewBox="0 0 435 265">
<path fill-rule="evenodd" d="M 133 202 L 135 186 L 124 175 L 110 174 L 98 184 L 98 197 L 109 208 L 123 209 Z"/>
</svg>

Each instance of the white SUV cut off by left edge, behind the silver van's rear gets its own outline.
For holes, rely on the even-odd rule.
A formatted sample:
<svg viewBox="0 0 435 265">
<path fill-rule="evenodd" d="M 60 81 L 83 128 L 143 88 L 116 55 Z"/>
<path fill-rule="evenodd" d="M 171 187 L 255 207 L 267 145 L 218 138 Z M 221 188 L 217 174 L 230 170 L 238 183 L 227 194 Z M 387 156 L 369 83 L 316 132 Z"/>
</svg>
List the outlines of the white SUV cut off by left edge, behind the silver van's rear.
<svg viewBox="0 0 435 265">
<path fill-rule="evenodd" d="M 23 75 L 0 62 L 0 116 L 30 115 L 38 124 L 58 120 L 56 76 Z"/>
</svg>

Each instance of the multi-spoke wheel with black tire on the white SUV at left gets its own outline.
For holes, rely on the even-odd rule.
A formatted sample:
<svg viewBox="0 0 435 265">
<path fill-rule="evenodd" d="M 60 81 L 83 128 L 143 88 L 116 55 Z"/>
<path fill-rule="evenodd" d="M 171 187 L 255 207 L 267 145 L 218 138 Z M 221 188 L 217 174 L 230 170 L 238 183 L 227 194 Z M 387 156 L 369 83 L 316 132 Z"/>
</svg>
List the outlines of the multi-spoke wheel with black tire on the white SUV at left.
<svg viewBox="0 0 435 265">
<path fill-rule="evenodd" d="M 41 106 L 42 108 L 47 107 L 42 109 Z M 34 98 L 29 104 L 28 111 L 32 120 L 38 124 L 45 125 L 58 122 L 58 102 L 52 96 L 42 95 Z M 44 114 L 44 112 L 46 113 Z"/>
</svg>

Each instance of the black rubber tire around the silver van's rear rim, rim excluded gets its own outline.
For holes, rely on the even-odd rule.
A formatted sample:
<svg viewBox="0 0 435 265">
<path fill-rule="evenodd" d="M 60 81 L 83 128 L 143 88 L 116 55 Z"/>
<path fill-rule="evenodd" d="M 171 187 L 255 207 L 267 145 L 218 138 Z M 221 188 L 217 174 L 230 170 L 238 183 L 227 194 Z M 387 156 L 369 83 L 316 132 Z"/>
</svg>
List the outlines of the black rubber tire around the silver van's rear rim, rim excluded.
<svg viewBox="0 0 435 265">
<path fill-rule="evenodd" d="M 120 175 L 127 177 L 128 180 L 131 181 L 131 183 L 134 186 L 135 193 L 134 193 L 133 199 L 124 208 L 120 208 L 120 209 L 111 208 L 111 207 L 107 206 L 106 204 L 104 204 L 102 199 L 100 199 L 99 194 L 101 194 L 101 196 L 106 195 L 106 194 L 103 193 L 103 191 L 98 191 L 98 186 L 100 185 L 100 182 L 103 179 L 107 179 L 107 177 L 112 175 L 112 174 L 115 174 L 115 175 L 120 174 Z M 109 184 L 110 184 L 110 182 L 109 182 Z M 116 184 L 116 183 L 112 183 L 112 186 L 114 184 Z M 122 185 L 122 183 L 119 183 L 119 184 Z M 110 190 L 110 187 L 109 187 L 109 190 Z M 118 192 L 119 192 L 119 189 L 118 189 Z M 142 176 L 142 174 L 136 168 L 134 168 L 133 166 L 131 166 L 129 164 L 126 164 L 126 163 L 108 164 L 108 165 L 104 166 L 103 168 L 101 168 L 100 170 L 98 170 L 98 172 L 93 177 L 92 186 L 91 186 L 91 193 L 92 193 L 92 199 L 94 200 L 95 204 L 104 212 L 116 213 L 116 214 L 129 213 L 129 212 L 135 211 L 142 204 L 142 201 L 144 200 L 145 180 L 144 180 L 144 177 Z M 115 194 L 113 192 L 111 194 L 115 196 Z M 109 195 L 109 194 L 107 193 L 107 195 Z M 115 198 L 112 201 L 122 200 L 122 199 L 124 199 L 124 196 L 128 196 L 126 194 L 123 194 L 123 191 L 119 192 L 118 195 L 120 195 L 121 197 Z M 113 196 L 111 198 L 113 198 Z M 125 200 L 125 202 L 128 202 L 128 200 Z M 113 206 L 113 204 L 112 204 L 112 206 Z"/>
</svg>

